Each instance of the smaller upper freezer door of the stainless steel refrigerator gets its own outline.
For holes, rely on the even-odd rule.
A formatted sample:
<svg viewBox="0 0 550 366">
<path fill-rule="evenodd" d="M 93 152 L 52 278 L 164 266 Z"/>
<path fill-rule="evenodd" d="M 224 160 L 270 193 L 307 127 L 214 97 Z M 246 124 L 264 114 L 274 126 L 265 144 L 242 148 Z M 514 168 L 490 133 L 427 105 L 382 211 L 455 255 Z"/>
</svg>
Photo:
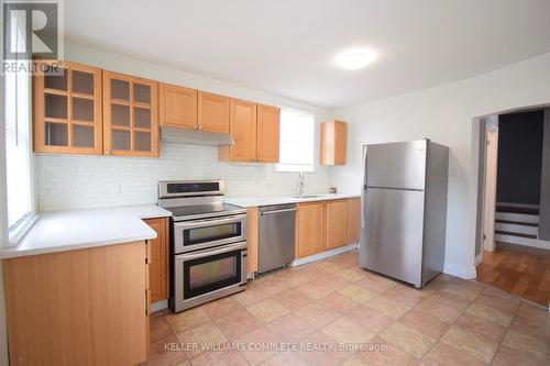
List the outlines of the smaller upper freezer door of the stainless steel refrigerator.
<svg viewBox="0 0 550 366">
<path fill-rule="evenodd" d="M 369 187 L 425 189 L 427 140 L 366 147 Z"/>
</svg>

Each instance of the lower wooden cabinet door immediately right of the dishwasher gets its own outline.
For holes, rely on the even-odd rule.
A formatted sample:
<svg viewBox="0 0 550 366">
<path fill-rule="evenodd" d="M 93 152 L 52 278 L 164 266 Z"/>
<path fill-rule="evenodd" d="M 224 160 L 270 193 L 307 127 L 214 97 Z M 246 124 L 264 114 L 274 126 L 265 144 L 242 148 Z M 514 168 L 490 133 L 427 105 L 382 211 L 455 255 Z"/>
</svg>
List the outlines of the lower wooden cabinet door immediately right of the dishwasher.
<svg viewBox="0 0 550 366">
<path fill-rule="evenodd" d="M 324 210 L 322 202 L 298 203 L 296 212 L 296 258 L 322 251 Z"/>
</svg>

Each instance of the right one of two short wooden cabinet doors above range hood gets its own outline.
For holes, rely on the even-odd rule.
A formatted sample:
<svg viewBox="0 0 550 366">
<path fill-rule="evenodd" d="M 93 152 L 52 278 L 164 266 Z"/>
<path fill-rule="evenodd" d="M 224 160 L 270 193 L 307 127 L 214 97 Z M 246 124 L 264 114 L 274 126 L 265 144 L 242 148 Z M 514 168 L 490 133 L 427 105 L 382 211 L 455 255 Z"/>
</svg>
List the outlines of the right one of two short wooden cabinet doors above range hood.
<svg viewBox="0 0 550 366">
<path fill-rule="evenodd" d="M 198 129 L 229 133 L 229 98 L 198 92 Z"/>
</svg>

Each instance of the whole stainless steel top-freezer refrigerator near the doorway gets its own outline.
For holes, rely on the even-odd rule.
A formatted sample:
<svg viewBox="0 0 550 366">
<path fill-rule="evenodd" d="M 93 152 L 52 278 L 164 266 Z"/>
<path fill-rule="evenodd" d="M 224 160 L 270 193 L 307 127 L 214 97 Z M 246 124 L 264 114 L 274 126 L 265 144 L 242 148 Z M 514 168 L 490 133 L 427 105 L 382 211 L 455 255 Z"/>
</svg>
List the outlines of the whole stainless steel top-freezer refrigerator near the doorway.
<svg viewBox="0 0 550 366">
<path fill-rule="evenodd" d="M 424 287 L 443 270 L 449 147 L 365 145 L 360 264 Z"/>
</svg>

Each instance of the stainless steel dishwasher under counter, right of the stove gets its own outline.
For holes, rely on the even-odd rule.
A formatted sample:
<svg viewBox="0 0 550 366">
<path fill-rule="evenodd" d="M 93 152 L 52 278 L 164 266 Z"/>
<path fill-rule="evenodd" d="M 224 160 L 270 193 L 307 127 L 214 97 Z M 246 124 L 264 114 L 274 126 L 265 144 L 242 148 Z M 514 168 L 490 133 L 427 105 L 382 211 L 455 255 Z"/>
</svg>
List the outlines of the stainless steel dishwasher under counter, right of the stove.
<svg viewBox="0 0 550 366">
<path fill-rule="evenodd" d="M 260 208 L 258 273 L 284 267 L 294 260 L 296 204 Z"/>
</svg>

